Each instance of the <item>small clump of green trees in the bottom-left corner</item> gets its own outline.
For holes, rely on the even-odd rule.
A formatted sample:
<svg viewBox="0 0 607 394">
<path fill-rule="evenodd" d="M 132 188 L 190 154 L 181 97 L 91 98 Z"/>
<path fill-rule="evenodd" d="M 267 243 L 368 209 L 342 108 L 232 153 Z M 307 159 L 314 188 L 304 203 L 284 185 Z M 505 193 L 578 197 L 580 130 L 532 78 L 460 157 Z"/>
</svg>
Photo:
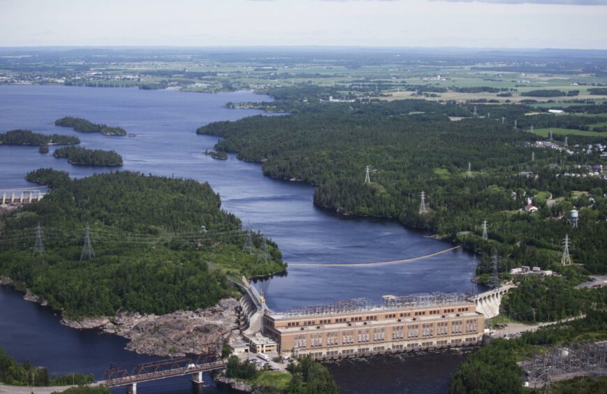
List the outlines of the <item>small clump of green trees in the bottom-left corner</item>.
<svg viewBox="0 0 607 394">
<path fill-rule="evenodd" d="M 29 362 L 17 363 L 0 349 L 0 382 L 11 386 L 64 386 L 68 384 L 89 384 L 93 374 L 69 374 L 49 377 L 48 370 Z"/>
</svg>

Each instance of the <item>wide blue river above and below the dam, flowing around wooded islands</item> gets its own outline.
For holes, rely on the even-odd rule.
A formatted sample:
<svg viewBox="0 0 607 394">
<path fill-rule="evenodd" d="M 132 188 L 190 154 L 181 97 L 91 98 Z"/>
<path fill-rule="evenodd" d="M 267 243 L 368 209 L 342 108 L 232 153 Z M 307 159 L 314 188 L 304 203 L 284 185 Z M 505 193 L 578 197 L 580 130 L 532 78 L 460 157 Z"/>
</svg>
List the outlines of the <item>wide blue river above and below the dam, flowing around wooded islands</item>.
<svg viewBox="0 0 607 394">
<path fill-rule="evenodd" d="M 245 225 L 277 242 L 285 261 L 339 263 L 387 261 L 432 254 L 451 247 L 392 221 L 351 218 L 314 207 L 314 188 L 263 177 L 257 163 L 230 155 L 227 161 L 203 154 L 217 137 L 198 136 L 198 126 L 218 120 L 259 115 L 257 110 L 229 110 L 228 101 L 269 101 L 252 92 L 199 94 L 172 90 L 88 88 L 20 85 L 0 87 L 0 132 L 30 129 L 41 133 L 76 135 L 82 146 L 114 149 L 123 156 L 124 170 L 207 181 L 217 191 L 222 207 Z M 54 126 L 64 116 L 121 126 L 136 133 L 101 136 L 75 133 Z M 65 159 L 38 153 L 37 147 L 0 145 L 0 189 L 38 186 L 24 180 L 29 171 L 52 167 L 73 177 L 110 171 L 73 166 Z M 361 174 L 364 176 L 364 174 Z M 95 242 L 95 240 L 93 240 Z M 379 302 L 384 294 L 404 295 L 432 291 L 468 291 L 476 257 L 460 249 L 411 263 L 369 268 L 293 266 L 288 275 L 263 284 L 268 306 L 282 311 L 298 305 L 367 297 Z M 80 332 L 58 323 L 59 317 L 21 295 L 0 289 L 0 347 L 18 360 L 31 360 L 51 372 L 94 372 L 109 363 L 149 360 L 124 351 L 124 340 L 96 332 Z M 391 360 L 382 367 L 331 367 L 338 384 L 349 393 L 441 393 L 462 356 L 434 356 Z M 443 365 L 443 367 L 441 367 Z M 367 371 L 351 376 L 351 371 Z M 381 370 L 381 373 L 379 371 Z M 425 384 L 420 381 L 420 370 Z M 390 384 L 386 377 L 394 377 Z M 356 384 L 358 379 L 363 379 Z M 430 385 L 428 381 L 432 382 Z M 395 384 L 395 382 L 399 382 Z M 363 384 L 364 383 L 364 384 Z M 359 387 L 358 389 L 356 387 Z M 170 379 L 140 386 L 140 393 L 189 393 L 187 379 Z M 217 390 L 206 388 L 205 392 Z"/>
</svg>

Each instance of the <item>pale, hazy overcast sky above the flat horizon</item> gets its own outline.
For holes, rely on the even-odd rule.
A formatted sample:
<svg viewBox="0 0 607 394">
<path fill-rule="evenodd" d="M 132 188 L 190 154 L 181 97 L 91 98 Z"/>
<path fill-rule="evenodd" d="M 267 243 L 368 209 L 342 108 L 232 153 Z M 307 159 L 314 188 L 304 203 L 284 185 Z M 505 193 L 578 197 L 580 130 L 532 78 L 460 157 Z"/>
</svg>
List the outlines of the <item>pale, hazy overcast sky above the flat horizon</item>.
<svg viewBox="0 0 607 394">
<path fill-rule="evenodd" d="M 607 49 L 607 0 L 0 0 L 0 46 Z"/>
</svg>

